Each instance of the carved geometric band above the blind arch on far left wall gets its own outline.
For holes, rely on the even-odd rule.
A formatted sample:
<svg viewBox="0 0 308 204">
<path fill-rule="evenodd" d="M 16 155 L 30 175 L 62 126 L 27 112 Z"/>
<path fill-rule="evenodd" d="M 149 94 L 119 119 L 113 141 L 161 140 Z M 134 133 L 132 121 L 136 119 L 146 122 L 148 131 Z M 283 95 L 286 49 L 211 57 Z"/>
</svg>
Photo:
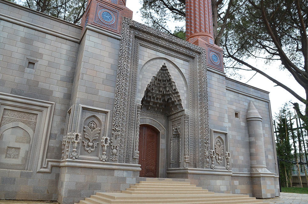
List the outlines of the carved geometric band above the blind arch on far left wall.
<svg viewBox="0 0 308 204">
<path fill-rule="evenodd" d="M 4 109 L 0 127 L 13 122 L 21 122 L 35 131 L 37 114 Z"/>
</svg>

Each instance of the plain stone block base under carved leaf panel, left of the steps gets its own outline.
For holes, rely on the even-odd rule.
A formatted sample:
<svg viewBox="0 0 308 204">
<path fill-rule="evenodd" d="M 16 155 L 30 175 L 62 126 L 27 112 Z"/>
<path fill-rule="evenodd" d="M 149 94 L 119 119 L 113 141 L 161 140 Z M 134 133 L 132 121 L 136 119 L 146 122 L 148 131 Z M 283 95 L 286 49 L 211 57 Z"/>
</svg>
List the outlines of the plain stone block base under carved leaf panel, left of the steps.
<svg viewBox="0 0 308 204">
<path fill-rule="evenodd" d="M 62 167 L 57 201 L 77 203 L 96 192 L 121 192 L 142 180 L 139 171 Z"/>
</svg>

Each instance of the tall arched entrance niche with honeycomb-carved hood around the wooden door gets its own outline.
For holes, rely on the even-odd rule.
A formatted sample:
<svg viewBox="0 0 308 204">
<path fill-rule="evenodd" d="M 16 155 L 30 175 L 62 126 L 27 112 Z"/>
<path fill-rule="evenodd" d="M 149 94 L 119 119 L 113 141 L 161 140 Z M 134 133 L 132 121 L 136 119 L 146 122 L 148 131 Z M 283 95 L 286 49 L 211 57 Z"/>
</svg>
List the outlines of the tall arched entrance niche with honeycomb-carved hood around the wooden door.
<svg viewBox="0 0 308 204">
<path fill-rule="evenodd" d="M 142 118 L 143 123 L 144 120 L 147 124 L 157 121 L 166 130 L 158 144 L 160 150 L 164 149 L 159 154 L 160 162 L 164 162 L 160 163 L 160 177 L 167 177 L 167 169 L 187 167 L 189 163 L 187 90 L 184 74 L 166 58 L 151 59 L 140 69 L 137 125 L 141 124 L 139 118 Z M 139 145 L 136 141 L 135 146 Z"/>
</svg>

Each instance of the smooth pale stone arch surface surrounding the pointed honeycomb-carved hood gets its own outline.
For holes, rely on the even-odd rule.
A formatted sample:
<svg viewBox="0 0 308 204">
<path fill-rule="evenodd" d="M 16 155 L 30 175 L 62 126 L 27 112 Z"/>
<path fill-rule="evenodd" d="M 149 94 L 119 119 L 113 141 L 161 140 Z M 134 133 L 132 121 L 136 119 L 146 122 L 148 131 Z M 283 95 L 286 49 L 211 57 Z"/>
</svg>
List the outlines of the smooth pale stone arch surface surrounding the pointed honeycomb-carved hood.
<svg viewBox="0 0 308 204">
<path fill-rule="evenodd" d="M 144 92 L 151 82 L 152 77 L 157 74 L 163 64 L 166 64 L 168 71 L 175 82 L 178 92 L 180 93 L 182 105 L 184 109 L 188 109 L 188 75 L 185 76 L 181 69 L 171 60 L 164 57 L 156 57 L 148 60 L 142 67 L 139 68 L 137 81 L 137 100 L 142 100 Z M 186 73 L 187 74 L 187 73 Z"/>
</svg>

